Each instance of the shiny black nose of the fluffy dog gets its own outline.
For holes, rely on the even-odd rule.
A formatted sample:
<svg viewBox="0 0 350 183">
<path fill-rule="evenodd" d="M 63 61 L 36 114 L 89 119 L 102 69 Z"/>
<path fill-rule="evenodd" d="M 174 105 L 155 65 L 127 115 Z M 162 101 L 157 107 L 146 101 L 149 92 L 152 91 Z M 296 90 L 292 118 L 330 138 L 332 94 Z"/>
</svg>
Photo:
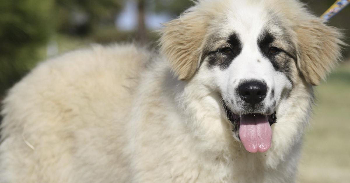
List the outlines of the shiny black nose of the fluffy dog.
<svg viewBox="0 0 350 183">
<path fill-rule="evenodd" d="M 260 81 L 250 81 L 241 84 L 238 87 L 241 98 L 249 104 L 255 105 L 260 103 L 266 97 L 266 85 Z"/>
</svg>

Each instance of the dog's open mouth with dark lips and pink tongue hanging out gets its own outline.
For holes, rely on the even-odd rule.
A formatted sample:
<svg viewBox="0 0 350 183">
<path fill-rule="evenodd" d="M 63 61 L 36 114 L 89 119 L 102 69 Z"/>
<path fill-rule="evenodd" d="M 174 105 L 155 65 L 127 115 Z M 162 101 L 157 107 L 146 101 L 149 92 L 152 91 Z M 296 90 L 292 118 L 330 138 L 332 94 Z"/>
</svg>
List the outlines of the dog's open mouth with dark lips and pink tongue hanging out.
<svg viewBox="0 0 350 183">
<path fill-rule="evenodd" d="M 276 123 L 276 112 L 273 114 L 250 113 L 237 115 L 224 102 L 228 119 L 238 133 L 244 148 L 251 153 L 266 152 L 271 147 L 271 125 Z"/>
</svg>

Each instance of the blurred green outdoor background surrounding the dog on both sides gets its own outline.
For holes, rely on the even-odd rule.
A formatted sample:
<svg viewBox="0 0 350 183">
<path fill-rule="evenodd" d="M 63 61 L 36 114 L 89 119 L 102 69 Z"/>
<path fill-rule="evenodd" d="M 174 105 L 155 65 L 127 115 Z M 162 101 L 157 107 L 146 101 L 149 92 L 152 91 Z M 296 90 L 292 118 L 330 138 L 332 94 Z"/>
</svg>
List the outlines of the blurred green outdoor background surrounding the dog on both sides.
<svg viewBox="0 0 350 183">
<path fill-rule="evenodd" d="M 303 0 L 321 15 L 335 0 Z M 1 0 L 0 101 L 38 62 L 91 43 L 138 41 L 154 45 L 161 23 L 189 0 Z M 350 6 L 330 20 L 350 43 Z M 305 136 L 299 182 L 350 182 L 350 49 L 318 97 Z M 1 118 L 0 118 L 1 120 Z"/>
</svg>

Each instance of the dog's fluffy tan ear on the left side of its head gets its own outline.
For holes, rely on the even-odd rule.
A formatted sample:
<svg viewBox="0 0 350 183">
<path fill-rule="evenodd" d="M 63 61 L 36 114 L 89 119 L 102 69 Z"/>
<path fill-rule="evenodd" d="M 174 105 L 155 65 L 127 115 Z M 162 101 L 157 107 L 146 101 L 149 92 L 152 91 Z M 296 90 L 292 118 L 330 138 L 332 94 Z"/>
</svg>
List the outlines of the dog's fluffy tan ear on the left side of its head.
<svg viewBox="0 0 350 183">
<path fill-rule="evenodd" d="M 209 21 L 206 17 L 191 8 L 161 30 L 161 51 L 180 80 L 191 78 L 198 68 Z"/>
</svg>

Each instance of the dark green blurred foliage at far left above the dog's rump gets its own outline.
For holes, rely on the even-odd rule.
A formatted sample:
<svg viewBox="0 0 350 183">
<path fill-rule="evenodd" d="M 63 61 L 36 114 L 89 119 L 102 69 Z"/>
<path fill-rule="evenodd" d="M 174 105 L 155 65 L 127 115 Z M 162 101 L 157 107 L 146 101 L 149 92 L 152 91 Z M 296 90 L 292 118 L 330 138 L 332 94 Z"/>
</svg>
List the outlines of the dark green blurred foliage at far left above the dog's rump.
<svg viewBox="0 0 350 183">
<path fill-rule="evenodd" d="M 52 0 L 0 1 L 0 96 L 37 58 L 53 31 Z"/>
</svg>

